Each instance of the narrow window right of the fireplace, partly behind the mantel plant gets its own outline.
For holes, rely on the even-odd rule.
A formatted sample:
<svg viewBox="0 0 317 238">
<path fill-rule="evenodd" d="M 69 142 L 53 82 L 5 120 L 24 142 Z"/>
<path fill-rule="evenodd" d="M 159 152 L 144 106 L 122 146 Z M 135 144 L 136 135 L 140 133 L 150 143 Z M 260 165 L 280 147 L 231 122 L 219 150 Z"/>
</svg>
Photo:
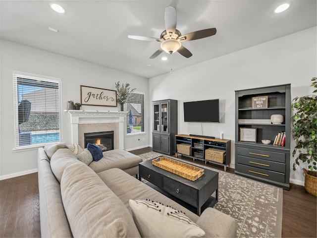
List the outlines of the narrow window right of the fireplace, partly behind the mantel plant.
<svg viewBox="0 0 317 238">
<path fill-rule="evenodd" d="M 144 93 L 131 93 L 127 104 L 127 133 L 137 134 L 144 132 Z"/>
</svg>

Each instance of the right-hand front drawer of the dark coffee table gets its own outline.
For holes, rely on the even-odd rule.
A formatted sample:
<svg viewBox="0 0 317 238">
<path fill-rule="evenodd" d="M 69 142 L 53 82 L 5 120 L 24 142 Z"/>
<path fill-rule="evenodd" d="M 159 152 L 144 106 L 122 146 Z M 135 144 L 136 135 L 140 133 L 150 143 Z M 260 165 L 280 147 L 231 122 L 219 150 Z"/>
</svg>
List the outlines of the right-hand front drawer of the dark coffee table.
<svg viewBox="0 0 317 238">
<path fill-rule="evenodd" d="M 163 189 L 174 197 L 197 207 L 196 189 L 166 177 L 163 177 Z"/>
</svg>

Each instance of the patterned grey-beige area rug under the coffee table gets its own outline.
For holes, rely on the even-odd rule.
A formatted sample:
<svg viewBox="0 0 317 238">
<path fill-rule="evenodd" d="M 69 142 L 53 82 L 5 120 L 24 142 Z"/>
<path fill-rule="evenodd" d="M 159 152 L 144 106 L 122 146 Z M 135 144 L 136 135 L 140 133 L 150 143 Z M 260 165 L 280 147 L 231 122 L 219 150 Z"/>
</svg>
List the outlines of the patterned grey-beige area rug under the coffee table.
<svg viewBox="0 0 317 238">
<path fill-rule="evenodd" d="M 149 152 L 139 156 L 143 161 L 158 156 L 170 157 L 157 152 Z M 282 188 L 221 170 L 215 170 L 195 162 L 180 158 L 177 158 L 177 160 L 219 173 L 219 198 L 218 203 L 213 208 L 236 219 L 238 225 L 237 237 L 281 237 Z"/>
</svg>

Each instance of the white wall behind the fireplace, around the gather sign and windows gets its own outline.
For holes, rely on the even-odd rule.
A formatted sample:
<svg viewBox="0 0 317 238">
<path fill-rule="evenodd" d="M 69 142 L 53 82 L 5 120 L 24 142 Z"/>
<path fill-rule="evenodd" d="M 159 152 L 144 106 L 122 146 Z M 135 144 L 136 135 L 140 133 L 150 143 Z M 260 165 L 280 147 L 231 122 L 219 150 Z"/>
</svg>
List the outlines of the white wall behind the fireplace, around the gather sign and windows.
<svg viewBox="0 0 317 238">
<path fill-rule="evenodd" d="M 132 88 L 137 88 L 137 91 L 145 92 L 145 115 L 149 115 L 149 81 L 147 78 L 4 40 L 0 41 L 0 49 L 0 179 L 37 170 L 37 148 L 13 152 L 13 70 L 61 78 L 62 110 L 66 109 L 69 100 L 80 102 L 80 85 L 115 90 L 115 82 L 128 82 Z M 120 107 L 82 106 L 81 109 L 119 111 Z M 63 141 L 70 143 L 71 127 L 67 119 L 69 117 L 62 112 Z M 145 116 L 145 124 L 146 134 L 127 136 L 124 139 L 125 149 L 149 145 L 149 118 L 147 116 Z M 138 138 L 140 138 L 140 142 L 137 142 Z"/>
</svg>

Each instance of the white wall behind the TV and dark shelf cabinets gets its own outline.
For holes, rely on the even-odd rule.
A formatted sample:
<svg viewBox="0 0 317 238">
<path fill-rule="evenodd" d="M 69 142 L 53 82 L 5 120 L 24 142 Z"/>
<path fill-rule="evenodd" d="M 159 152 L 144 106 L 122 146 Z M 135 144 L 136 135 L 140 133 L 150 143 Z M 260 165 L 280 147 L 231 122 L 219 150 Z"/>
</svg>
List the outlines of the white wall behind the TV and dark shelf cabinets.
<svg viewBox="0 0 317 238">
<path fill-rule="evenodd" d="M 292 99 L 311 94 L 310 80 L 317 76 L 316 38 L 313 27 L 151 78 L 150 100 L 178 100 L 178 133 L 202 134 L 201 123 L 184 122 L 183 102 L 219 98 L 221 122 L 203 123 L 203 134 L 220 137 L 223 132 L 231 140 L 230 167 L 234 168 L 235 90 L 291 83 Z M 293 163 L 291 157 L 291 167 Z M 291 168 L 290 179 L 303 184 L 302 170 L 294 173 Z"/>
</svg>

